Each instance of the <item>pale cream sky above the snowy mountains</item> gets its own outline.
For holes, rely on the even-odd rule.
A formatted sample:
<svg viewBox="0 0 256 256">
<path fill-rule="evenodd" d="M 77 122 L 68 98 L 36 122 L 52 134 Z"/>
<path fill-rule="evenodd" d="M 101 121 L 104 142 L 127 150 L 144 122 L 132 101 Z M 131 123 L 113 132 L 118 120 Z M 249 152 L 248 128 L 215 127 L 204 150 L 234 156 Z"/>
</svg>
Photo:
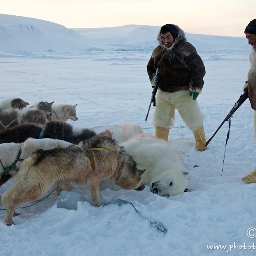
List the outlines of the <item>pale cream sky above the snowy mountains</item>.
<svg viewBox="0 0 256 256">
<path fill-rule="evenodd" d="M 67 28 L 172 23 L 188 33 L 228 36 L 244 36 L 256 18 L 256 0 L 0 0 L 0 6 L 2 14 Z"/>
</svg>

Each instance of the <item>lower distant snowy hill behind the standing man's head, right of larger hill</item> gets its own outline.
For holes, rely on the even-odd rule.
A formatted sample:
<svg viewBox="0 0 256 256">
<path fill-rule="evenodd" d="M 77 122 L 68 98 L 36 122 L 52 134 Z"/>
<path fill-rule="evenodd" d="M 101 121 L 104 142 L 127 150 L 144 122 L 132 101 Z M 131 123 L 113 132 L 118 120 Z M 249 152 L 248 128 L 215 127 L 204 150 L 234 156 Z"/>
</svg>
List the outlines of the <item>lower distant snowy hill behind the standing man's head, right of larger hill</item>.
<svg viewBox="0 0 256 256">
<path fill-rule="evenodd" d="M 106 44 L 117 50 L 152 50 L 158 45 L 156 37 L 160 26 L 126 25 L 107 28 L 74 29 L 93 41 Z M 188 42 L 193 44 L 199 52 L 208 51 L 240 51 L 248 50 L 245 37 L 200 35 L 185 32 Z M 100 37 L 101 38 L 100 38 Z"/>
</svg>

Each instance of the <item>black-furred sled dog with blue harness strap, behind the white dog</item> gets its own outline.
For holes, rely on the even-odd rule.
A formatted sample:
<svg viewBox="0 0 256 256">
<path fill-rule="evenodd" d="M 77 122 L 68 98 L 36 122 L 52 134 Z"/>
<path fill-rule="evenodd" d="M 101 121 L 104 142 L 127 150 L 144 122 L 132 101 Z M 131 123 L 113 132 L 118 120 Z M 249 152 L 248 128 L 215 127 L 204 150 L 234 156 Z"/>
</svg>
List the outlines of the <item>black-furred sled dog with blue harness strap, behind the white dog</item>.
<svg viewBox="0 0 256 256">
<path fill-rule="evenodd" d="M 0 143 L 22 143 L 27 138 L 51 138 L 68 141 L 78 144 L 80 141 L 87 140 L 96 135 L 96 132 L 82 128 L 79 132 L 73 131 L 71 124 L 60 121 L 49 121 L 42 129 L 36 124 L 20 124 L 13 128 L 0 131 Z"/>
</svg>

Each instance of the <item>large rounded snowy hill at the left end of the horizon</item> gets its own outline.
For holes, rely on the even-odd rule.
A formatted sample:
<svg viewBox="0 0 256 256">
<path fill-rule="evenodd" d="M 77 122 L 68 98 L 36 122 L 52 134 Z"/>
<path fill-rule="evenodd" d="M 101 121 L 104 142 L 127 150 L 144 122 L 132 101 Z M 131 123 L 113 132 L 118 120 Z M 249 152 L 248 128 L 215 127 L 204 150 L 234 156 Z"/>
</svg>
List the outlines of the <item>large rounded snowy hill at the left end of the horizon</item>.
<svg viewBox="0 0 256 256">
<path fill-rule="evenodd" d="M 88 49 L 91 44 L 71 29 L 34 18 L 0 14 L 2 51 L 71 51 Z"/>
</svg>

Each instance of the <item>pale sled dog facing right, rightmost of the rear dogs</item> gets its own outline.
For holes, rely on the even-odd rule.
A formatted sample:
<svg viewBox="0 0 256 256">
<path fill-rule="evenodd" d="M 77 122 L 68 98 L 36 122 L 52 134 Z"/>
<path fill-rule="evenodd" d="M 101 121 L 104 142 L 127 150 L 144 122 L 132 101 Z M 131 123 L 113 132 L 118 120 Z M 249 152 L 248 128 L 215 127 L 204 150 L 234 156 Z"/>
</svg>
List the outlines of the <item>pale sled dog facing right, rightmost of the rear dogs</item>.
<svg viewBox="0 0 256 256">
<path fill-rule="evenodd" d="M 66 104 L 53 105 L 53 115 L 50 117 L 50 120 L 59 120 L 66 122 L 68 119 L 71 119 L 73 121 L 76 121 L 78 119 L 75 111 L 76 106 L 77 104 L 74 106 Z"/>
</svg>

